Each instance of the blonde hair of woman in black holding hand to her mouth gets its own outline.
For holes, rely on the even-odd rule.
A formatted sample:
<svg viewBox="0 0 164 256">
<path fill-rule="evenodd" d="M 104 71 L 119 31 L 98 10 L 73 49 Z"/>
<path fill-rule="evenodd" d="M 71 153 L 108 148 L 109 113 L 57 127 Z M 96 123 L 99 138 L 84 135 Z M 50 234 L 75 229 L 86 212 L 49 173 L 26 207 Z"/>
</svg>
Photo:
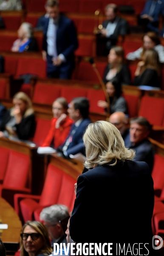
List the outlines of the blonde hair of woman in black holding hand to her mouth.
<svg viewBox="0 0 164 256">
<path fill-rule="evenodd" d="M 25 113 L 23 114 L 23 117 L 29 116 L 34 113 L 34 110 L 32 108 L 31 99 L 28 97 L 27 94 L 25 94 L 23 92 L 18 92 L 14 95 L 13 99 L 20 99 L 25 103 L 26 110 L 25 110 Z M 14 108 L 11 109 L 11 116 L 14 116 L 13 110 L 14 110 Z"/>
</svg>

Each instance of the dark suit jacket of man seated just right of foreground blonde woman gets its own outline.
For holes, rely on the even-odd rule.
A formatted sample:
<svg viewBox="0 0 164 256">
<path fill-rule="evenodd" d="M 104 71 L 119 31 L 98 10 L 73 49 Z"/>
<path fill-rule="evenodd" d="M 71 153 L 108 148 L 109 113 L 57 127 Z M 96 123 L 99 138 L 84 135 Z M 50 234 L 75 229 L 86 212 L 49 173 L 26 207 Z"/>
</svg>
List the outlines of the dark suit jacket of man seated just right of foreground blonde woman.
<svg viewBox="0 0 164 256">
<path fill-rule="evenodd" d="M 150 172 L 152 172 L 154 164 L 154 150 L 149 140 L 142 140 L 134 146 L 129 142 L 127 143 L 127 148 L 133 148 L 133 150 L 136 151 L 136 157 L 134 160 L 146 162 L 150 168 Z"/>
</svg>

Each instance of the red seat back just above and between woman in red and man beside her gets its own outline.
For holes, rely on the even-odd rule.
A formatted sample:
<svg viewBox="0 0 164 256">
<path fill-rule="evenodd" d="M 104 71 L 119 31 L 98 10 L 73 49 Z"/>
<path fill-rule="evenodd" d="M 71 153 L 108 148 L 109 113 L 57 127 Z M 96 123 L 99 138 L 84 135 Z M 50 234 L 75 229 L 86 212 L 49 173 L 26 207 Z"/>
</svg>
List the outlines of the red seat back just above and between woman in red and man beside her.
<svg viewBox="0 0 164 256">
<path fill-rule="evenodd" d="M 75 87 L 62 87 L 61 97 L 71 102 L 76 97 L 87 97 L 87 89 L 75 88 Z"/>
</svg>

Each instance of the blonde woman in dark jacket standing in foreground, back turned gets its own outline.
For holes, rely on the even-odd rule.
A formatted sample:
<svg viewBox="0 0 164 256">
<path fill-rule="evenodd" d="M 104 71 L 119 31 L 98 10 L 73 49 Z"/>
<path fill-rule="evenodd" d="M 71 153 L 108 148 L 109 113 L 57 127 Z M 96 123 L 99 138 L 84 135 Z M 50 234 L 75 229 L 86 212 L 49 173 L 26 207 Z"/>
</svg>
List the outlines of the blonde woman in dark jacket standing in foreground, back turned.
<svg viewBox="0 0 164 256">
<path fill-rule="evenodd" d="M 89 124 L 83 140 L 87 160 L 77 179 L 71 239 L 97 244 L 108 255 L 119 255 L 119 244 L 126 255 L 127 248 L 136 250 L 142 243 L 143 255 L 148 254 L 145 247 L 156 255 L 151 227 L 153 179 L 147 163 L 133 161 L 134 151 L 125 148 L 119 130 L 109 122 Z"/>
</svg>

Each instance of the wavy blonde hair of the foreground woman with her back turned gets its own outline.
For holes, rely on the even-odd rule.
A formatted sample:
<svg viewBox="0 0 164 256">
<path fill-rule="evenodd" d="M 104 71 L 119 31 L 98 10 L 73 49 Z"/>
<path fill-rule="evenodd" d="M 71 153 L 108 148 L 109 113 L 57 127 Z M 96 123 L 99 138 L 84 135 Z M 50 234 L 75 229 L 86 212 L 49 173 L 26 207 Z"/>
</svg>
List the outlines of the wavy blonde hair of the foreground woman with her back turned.
<svg viewBox="0 0 164 256">
<path fill-rule="evenodd" d="M 87 169 L 98 165 L 116 165 L 118 160 L 132 160 L 135 153 L 124 146 L 119 130 L 107 121 L 97 121 L 88 125 L 83 136 Z"/>
</svg>

